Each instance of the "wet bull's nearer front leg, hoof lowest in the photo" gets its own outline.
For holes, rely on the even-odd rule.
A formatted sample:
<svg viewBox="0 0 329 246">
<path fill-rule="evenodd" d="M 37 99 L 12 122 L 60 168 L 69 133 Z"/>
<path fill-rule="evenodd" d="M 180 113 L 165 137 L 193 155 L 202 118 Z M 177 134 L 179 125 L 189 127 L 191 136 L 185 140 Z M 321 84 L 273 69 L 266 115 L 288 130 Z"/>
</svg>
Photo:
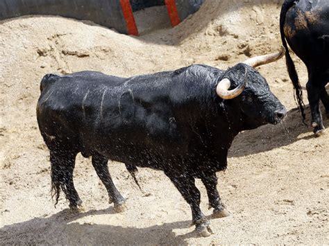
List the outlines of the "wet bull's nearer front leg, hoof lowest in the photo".
<svg viewBox="0 0 329 246">
<path fill-rule="evenodd" d="M 171 182 L 174 183 L 180 194 L 183 195 L 185 201 L 189 204 L 192 210 L 192 225 L 196 226 L 196 231 L 201 234 L 201 236 L 206 237 L 212 234 L 210 229 L 210 222 L 205 218 L 200 209 L 200 191 L 196 188 L 194 184 L 194 177 L 188 173 L 167 173 Z"/>
</svg>

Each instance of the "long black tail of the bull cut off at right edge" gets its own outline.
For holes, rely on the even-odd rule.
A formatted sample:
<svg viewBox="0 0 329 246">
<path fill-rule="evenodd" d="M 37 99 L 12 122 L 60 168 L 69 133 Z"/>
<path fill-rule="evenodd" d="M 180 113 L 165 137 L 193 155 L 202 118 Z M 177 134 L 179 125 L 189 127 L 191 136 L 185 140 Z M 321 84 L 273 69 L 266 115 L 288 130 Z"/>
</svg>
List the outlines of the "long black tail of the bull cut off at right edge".
<svg viewBox="0 0 329 246">
<path fill-rule="evenodd" d="M 301 88 L 301 84 L 298 79 L 296 67 L 292 60 L 292 57 L 289 54 L 289 49 L 287 45 L 287 41 L 285 39 L 285 32 L 283 30 L 283 26 L 285 25 L 285 16 L 289 10 L 294 5 L 294 0 L 286 0 L 283 3 L 281 12 L 280 12 L 280 33 L 282 44 L 285 47 L 285 60 L 287 64 L 287 70 L 289 73 L 290 80 L 292 80 L 292 85 L 294 85 L 294 98 L 298 103 L 298 107 L 301 110 L 301 116 L 303 117 L 303 122 L 305 123 L 305 105 L 303 103 L 303 90 Z"/>
</svg>

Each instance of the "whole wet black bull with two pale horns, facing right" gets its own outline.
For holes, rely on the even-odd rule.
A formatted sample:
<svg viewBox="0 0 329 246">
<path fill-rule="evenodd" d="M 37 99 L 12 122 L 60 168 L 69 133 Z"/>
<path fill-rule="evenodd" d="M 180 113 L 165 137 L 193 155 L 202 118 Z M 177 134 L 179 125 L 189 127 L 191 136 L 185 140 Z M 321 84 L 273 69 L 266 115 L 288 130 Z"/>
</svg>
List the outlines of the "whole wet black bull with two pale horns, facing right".
<svg viewBox="0 0 329 246">
<path fill-rule="evenodd" d="M 188 202 L 196 230 L 209 236 L 194 179 L 205 185 L 214 216 L 228 216 L 216 172 L 226 169 L 239 132 L 285 117 L 285 107 L 253 68 L 283 53 L 251 58 L 227 71 L 192 65 L 131 78 L 95 71 L 44 76 L 37 122 L 50 150 L 56 202 L 62 190 L 71 208 L 81 204 L 73 182 L 78 152 L 92 156 L 117 211 L 125 200 L 112 182 L 108 160 L 123 162 L 130 173 L 137 166 L 154 168 L 163 170 Z"/>
</svg>

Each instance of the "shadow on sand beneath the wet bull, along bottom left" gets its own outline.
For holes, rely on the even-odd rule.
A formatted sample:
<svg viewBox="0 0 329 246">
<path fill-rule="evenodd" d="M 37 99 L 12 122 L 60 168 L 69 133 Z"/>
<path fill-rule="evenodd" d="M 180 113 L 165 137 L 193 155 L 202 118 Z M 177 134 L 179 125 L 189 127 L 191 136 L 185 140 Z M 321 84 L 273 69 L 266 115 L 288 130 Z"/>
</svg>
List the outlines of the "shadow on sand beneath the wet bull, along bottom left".
<svg viewBox="0 0 329 246">
<path fill-rule="evenodd" d="M 146 228 L 96 225 L 74 222 L 85 216 L 114 213 L 112 209 L 85 213 L 60 211 L 49 218 L 33 218 L 0 229 L 1 245 L 187 245 L 186 238 L 198 237 L 195 231 L 176 236 L 173 229 L 190 227 L 191 221 L 179 221 Z"/>
</svg>

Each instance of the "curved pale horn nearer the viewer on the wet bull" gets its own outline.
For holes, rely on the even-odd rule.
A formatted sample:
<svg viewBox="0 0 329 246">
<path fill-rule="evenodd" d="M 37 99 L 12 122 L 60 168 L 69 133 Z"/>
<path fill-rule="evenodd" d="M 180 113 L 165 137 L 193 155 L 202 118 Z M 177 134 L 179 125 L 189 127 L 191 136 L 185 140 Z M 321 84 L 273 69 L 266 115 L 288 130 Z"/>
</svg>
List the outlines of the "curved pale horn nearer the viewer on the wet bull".
<svg viewBox="0 0 329 246">
<path fill-rule="evenodd" d="M 246 87 L 246 73 L 247 69 L 245 69 L 244 72 L 244 82 L 242 82 L 235 89 L 228 90 L 230 88 L 230 80 L 228 78 L 223 78 L 221 81 L 219 81 L 216 87 L 217 95 L 223 99 L 232 99 L 239 96 L 239 94 L 242 94 L 244 87 Z"/>
</svg>

